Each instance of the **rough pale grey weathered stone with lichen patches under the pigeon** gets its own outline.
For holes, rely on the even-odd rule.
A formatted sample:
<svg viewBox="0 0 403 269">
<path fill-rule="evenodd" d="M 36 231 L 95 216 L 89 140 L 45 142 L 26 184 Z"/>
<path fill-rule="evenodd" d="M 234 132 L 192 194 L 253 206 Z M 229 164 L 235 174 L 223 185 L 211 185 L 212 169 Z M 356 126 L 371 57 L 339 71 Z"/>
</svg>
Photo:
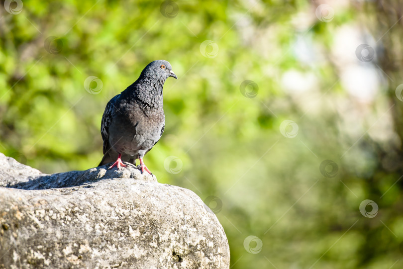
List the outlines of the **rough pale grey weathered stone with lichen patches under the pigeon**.
<svg viewBox="0 0 403 269">
<path fill-rule="evenodd" d="M 0 154 L 0 268 L 228 269 L 229 247 L 194 192 L 134 166 L 45 175 Z"/>
</svg>

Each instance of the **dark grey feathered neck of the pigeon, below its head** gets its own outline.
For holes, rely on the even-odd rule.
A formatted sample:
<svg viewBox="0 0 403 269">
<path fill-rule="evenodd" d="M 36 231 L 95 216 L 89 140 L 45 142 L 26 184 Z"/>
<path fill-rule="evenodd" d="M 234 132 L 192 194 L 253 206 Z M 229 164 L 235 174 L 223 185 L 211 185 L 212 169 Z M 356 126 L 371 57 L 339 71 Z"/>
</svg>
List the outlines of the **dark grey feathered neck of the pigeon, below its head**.
<svg viewBox="0 0 403 269">
<path fill-rule="evenodd" d="M 162 88 L 164 83 L 165 79 L 163 78 L 140 77 L 135 83 L 123 91 L 123 95 L 134 97 L 144 108 L 162 109 Z"/>
</svg>

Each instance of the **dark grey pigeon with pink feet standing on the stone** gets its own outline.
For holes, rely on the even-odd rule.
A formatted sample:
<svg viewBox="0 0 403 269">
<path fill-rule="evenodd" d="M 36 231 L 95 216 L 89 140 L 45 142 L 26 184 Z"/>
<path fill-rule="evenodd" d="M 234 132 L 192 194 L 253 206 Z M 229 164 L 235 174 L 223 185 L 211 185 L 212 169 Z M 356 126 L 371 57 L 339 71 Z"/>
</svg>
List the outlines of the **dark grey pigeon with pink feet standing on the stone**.
<svg viewBox="0 0 403 269">
<path fill-rule="evenodd" d="M 108 169 L 136 165 L 150 175 L 143 157 L 164 132 L 165 115 L 162 88 L 166 79 L 178 79 L 171 64 L 157 60 L 148 64 L 140 77 L 106 104 L 101 120 L 103 158 L 99 166 L 114 162 Z M 115 161 L 116 160 L 116 161 Z"/>
</svg>

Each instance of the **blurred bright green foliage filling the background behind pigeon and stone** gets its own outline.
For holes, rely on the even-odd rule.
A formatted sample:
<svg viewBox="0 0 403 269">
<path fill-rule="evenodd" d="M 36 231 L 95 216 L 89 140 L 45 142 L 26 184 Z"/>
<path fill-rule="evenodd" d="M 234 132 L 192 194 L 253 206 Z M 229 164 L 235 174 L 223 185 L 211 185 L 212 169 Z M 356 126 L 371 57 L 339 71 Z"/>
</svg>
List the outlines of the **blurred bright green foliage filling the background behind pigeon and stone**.
<svg viewBox="0 0 403 269">
<path fill-rule="evenodd" d="M 18 14 L 2 1 L 0 151 L 44 173 L 97 166 L 107 101 L 165 59 L 179 80 L 165 84 L 165 132 L 144 160 L 160 182 L 208 201 L 231 268 L 401 268 L 402 154 L 389 116 L 400 115 L 399 100 L 390 108 L 399 76 L 380 74 L 386 82 L 362 103 L 332 54 L 340 28 L 368 26 L 377 40 L 392 23 L 378 23 L 372 3 L 323 2 L 328 22 L 306 0 L 24 0 Z M 386 40 L 399 34 L 387 32 L 383 50 L 396 50 Z M 315 87 L 285 90 L 289 71 Z M 97 94 L 89 76 L 102 82 Z M 281 130 L 284 120 L 295 137 L 282 135 L 295 131 Z M 337 171 L 321 173 L 325 160 Z M 365 199 L 379 206 L 374 218 L 360 213 Z"/>
</svg>

